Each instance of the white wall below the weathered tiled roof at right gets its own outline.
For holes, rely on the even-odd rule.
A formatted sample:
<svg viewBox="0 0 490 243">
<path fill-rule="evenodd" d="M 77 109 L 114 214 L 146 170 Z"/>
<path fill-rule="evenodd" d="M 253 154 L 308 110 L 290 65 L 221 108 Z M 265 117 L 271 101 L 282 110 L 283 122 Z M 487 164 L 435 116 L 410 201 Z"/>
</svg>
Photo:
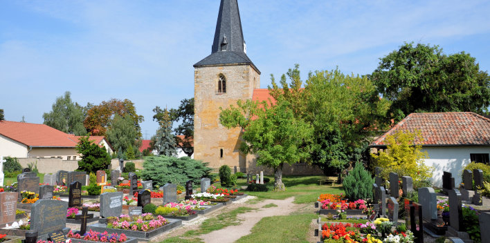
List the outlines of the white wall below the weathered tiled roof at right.
<svg viewBox="0 0 490 243">
<path fill-rule="evenodd" d="M 422 150 L 428 153 L 426 166 L 435 168 L 431 178 L 433 185 L 442 187 L 442 173 L 447 171 L 453 174 L 457 187 L 463 168 L 471 163 L 470 153 L 490 153 L 490 146 L 424 146 Z"/>
</svg>

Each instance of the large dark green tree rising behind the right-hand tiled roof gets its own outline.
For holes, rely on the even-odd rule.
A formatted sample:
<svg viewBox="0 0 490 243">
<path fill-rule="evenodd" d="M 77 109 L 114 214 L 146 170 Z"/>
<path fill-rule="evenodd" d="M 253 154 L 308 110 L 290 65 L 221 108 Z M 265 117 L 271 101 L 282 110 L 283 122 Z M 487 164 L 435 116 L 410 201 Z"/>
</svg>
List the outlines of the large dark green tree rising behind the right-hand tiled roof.
<svg viewBox="0 0 490 243">
<path fill-rule="evenodd" d="M 468 53 L 445 55 L 439 46 L 405 43 L 381 58 L 371 75 L 392 101 L 395 122 L 410 113 L 472 111 L 490 105 L 490 78 Z"/>
</svg>

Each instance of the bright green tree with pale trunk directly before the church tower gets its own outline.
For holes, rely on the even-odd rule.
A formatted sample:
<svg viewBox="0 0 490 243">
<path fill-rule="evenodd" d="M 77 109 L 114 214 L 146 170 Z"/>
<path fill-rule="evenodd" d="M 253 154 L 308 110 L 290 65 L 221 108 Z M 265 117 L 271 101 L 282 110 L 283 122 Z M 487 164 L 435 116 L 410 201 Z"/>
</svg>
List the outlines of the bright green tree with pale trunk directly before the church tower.
<svg viewBox="0 0 490 243">
<path fill-rule="evenodd" d="M 242 128 L 240 150 L 257 155 L 257 164 L 274 169 L 274 189 L 284 191 L 282 166 L 295 164 L 309 154 L 301 147 L 313 135 L 307 122 L 297 119 L 291 104 L 278 99 L 273 105 L 266 101 L 237 101 L 237 106 L 221 109 L 219 121 L 226 128 Z"/>
</svg>

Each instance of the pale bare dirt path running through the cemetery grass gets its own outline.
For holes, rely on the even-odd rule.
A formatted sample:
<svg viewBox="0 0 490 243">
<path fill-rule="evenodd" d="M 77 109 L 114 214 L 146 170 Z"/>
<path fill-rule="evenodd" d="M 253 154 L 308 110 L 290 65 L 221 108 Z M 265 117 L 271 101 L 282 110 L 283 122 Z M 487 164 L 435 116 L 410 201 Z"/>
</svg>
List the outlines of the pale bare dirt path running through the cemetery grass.
<svg viewBox="0 0 490 243">
<path fill-rule="evenodd" d="M 206 243 L 228 243 L 235 242 L 240 237 L 248 235 L 255 224 L 257 224 L 262 217 L 271 217 L 278 215 L 289 215 L 293 211 L 298 209 L 299 204 L 293 204 L 294 197 L 289 197 L 285 200 L 264 200 L 258 204 L 251 204 L 252 208 L 258 208 L 257 211 L 239 214 L 238 218 L 242 224 L 235 226 L 228 226 L 219 231 L 212 231 L 206 235 L 199 235 L 199 238 L 203 239 Z M 271 208 L 262 208 L 266 204 L 275 204 L 278 206 Z"/>
</svg>

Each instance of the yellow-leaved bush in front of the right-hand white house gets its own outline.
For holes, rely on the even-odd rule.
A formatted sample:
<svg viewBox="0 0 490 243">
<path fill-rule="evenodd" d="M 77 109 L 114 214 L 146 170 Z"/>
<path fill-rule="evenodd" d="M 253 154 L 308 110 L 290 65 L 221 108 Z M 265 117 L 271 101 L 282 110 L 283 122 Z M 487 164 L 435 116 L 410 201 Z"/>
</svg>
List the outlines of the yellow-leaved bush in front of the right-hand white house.
<svg viewBox="0 0 490 243">
<path fill-rule="evenodd" d="M 428 154 L 421 151 L 420 143 L 423 140 L 420 133 L 404 131 L 386 136 L 385 144 L 388 148 L 380 151 L 378 155 L 371 154 L 376 165 L 383 168 L 381 176 L 385 181 L 388 181 L 389 172 L 398 173 L 399 177 L 408 175 L 412 177 L 414 184 L 430 178 L 433 167 L 424 164 Z M 414 145 L 415 141 L 418 144 Z"/>
</svg>

